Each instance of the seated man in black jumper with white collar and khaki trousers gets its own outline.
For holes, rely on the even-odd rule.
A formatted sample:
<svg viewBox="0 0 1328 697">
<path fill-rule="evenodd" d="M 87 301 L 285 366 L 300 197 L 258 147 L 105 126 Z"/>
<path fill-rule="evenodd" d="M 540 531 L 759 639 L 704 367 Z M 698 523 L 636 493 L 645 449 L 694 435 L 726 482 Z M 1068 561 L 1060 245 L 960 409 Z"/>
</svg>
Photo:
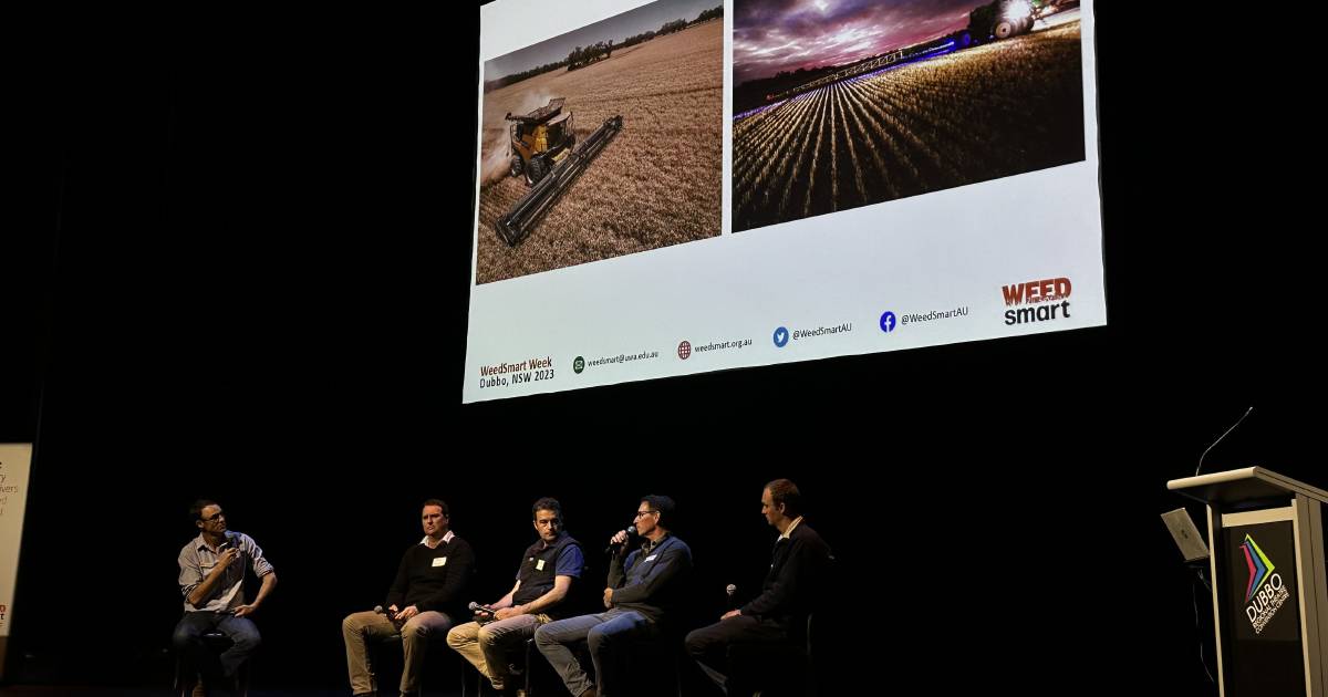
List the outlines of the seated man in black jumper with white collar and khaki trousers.
<svg viewBox="0 0 1328 697">
<path fill-rule="evenodd" d="M 386 612 L 356 612 L 341 620 L 345 662 L 355 694 L 373 693 L 368 643 L 401 635 L 401 694 L 417 694 L 420 668 L 430 635 L 445 635 L 474 570 L 470 544 L 450 530 L 448 504 L 440 499 L 424 502 L 420 514 L 424 539 L 401 555 L 397 579 L 388 591 Z"/>
</svg>

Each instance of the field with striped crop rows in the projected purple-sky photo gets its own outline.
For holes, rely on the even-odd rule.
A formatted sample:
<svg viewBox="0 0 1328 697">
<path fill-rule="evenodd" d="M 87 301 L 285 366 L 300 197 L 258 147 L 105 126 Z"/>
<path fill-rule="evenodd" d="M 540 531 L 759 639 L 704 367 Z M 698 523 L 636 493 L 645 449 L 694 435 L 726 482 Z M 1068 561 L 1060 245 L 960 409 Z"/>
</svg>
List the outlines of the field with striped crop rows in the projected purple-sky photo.
<svg viewBox="0 0 1328 697">
<path fill-rule="evenodd" d="M 1082 161 L 1080 50 L 1076 21 L 734 119 L 733 230 Z"/>
</svg>

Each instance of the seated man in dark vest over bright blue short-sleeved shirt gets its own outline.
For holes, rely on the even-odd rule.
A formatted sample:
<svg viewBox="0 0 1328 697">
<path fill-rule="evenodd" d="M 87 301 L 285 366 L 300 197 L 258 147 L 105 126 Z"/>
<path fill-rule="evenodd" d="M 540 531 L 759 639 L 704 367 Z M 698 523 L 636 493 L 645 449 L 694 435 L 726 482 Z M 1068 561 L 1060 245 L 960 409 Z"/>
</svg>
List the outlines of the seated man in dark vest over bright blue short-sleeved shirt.
<svg viewBox="0 0 1328 697">
<path fill-rule="evenodd" d="M 563 601 L 572 579 L 579 579 L 586 566 L 580 543 L 563 531 L 563 507 L 558 499 L 537 501 L 531 516 L 539 539 L 522 555 L 517 584 L 489 605 L 495 612 L 477 609 L 475 621 L 448 632 L 448 645 L 487 677 L 495 690 L 510 694 L 517 689 L 507 673 L 507 651 L 535 636 L 540 625 L 567 616 L 560 612 L 566 608 Z"/>
</svg>

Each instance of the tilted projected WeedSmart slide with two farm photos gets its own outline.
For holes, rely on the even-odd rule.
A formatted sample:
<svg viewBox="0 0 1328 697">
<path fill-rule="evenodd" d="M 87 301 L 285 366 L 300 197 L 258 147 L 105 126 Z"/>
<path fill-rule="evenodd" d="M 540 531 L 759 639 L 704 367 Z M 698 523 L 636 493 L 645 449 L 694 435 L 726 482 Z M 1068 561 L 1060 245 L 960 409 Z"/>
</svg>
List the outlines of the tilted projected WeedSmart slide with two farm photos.
<svg viewBox="0 0 1328 697">
<path fill-rule="evenodd" d="M 462 401 L 1106 324 L 1094 54 L 1088 0 L 483 5 Z"/>
</svg>

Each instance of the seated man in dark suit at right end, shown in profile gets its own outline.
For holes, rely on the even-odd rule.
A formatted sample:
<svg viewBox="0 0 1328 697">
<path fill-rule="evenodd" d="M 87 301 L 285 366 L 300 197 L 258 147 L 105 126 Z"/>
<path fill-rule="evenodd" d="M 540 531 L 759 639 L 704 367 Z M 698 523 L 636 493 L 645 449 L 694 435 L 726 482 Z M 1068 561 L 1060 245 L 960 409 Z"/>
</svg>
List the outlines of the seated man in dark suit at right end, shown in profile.
<svg viewBox="0 0 1328 697">
<path fill-rule="evenodd" d="M 725 694 L 730 686 L 724 674 L 729 645 L 801 639 L 817 595 L 814 583 L 833 559 L 821 535 L 802 522 L 802 494 L 793 482 L 776 479 L 766 485 L 761 512 L 780 531 L 761 595 L 725 612 L 718 623 L 687 635 L 687 652 Z"/>
</svg>

